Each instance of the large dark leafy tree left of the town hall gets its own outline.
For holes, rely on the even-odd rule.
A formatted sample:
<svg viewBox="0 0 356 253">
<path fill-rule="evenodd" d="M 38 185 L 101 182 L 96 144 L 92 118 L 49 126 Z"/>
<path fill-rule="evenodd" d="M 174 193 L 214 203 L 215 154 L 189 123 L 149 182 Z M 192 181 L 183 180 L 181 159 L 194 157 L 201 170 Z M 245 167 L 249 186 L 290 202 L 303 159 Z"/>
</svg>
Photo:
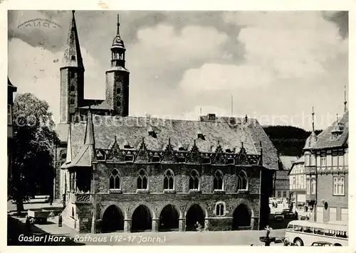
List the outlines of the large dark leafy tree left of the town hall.
<svg viewBox="0 0 356 253">
<path fill-rule="evenodd" d="M 31 93 L 20 94 L 14 100 L 14 161 L 11 177 L 11 198 L 18 212 L 23 200 L 38 190 L 51 188 L 55 171 L 53 146 L 58 144 L 52 113 L 48 103 Z"/>
</svg>

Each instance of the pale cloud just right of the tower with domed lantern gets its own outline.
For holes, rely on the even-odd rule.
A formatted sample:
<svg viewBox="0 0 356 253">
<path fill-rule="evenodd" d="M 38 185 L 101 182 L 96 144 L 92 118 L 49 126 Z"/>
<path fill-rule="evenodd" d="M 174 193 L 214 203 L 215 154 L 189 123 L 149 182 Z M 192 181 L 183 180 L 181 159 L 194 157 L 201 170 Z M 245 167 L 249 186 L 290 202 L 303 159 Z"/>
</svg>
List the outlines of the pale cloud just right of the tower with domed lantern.
<svg viewBox="0 0 356 253">
<path fill-rule="evenodd" d="M 222 55 L 221 45 L 228 36 L 213 27 L 185 26 L 177 33 L 173 26 L 160 24 L 137 31 L 138 42 L 127 45 L 131 68 L 164 70 L 201 64 Z"/>
</svg>

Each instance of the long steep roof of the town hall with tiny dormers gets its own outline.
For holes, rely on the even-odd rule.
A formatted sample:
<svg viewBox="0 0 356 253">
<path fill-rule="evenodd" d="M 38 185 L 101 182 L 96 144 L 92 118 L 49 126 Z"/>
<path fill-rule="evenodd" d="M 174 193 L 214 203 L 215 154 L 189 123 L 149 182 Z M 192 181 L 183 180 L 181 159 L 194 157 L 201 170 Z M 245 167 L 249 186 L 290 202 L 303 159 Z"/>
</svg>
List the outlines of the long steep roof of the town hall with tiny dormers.
<svg viewBox="0 0 356 253">
<path fill-rule="evenodd" d="M 244 119 L 235 118 L 237 124 L 227 124 L 224 117 L 216 118 L 214 122 L 170 120 L 146 117 L 110 117 L 93 115 L 95 149 L 110 149 L 117 139 L 122 149 L 130 145 L 139 149 L 142 138 L 145 138 L 147 149 L 162 151 L 170 143 L 173 149 L 179 147 L 190 150 L 194 141 L 201 152 L 214 152 L 216 146 L 239 153 L 241 142 L 247 154 L 260 154 L 260 141 L 263 148 L 263 166 L 278 169 L 277 151 L 256 119 L 250 119 L 243 124 Z M 84 144 L 86 123 L 70 124 L 72 152 L 79 154 Z M 155 131 L 156 138 L 148 135 L 148 130 Z M 197 133 L 204 135 L 198 139 Z M 225 151 L 225 150 L 224 150 Z"/>
</svg>

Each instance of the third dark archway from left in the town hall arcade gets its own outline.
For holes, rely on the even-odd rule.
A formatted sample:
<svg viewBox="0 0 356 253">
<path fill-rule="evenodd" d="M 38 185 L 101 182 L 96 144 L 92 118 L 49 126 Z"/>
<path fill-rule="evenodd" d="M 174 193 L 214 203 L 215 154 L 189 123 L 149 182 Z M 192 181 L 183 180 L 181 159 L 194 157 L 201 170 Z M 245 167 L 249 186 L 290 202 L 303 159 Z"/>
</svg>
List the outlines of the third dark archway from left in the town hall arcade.
<svg viewBox="0 0 356 253">
<path fill-rule="evenodd" d="M 180 210 L 173 204 L 164 205 L 159 212 L 159 231 L 178 230 Z"/>
</svg>

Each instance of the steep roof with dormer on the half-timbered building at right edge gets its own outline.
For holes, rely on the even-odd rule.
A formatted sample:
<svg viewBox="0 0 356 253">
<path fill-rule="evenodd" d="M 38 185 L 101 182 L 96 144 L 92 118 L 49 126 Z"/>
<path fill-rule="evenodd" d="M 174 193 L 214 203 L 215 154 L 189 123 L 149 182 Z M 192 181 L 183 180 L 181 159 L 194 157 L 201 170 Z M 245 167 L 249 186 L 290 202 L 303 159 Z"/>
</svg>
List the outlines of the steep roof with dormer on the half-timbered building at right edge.
<svg viewBox="0 0 356 253">
<path fill-rule="evenodd" d="M 332 132 L 335 129 L 335 126 L 337 126 L 337 123 L 340 123 L 343 126 L 342 134 L 340 134 L 337 139 L 332 139 Z M 316 142 L 313 149 L 328 149 L 333 147 L 345 146 L 348 136 L 349 112 L 347 111 L 338 122 L 334 122 L 318 135 L 318 141 Z"/>
</svg>

